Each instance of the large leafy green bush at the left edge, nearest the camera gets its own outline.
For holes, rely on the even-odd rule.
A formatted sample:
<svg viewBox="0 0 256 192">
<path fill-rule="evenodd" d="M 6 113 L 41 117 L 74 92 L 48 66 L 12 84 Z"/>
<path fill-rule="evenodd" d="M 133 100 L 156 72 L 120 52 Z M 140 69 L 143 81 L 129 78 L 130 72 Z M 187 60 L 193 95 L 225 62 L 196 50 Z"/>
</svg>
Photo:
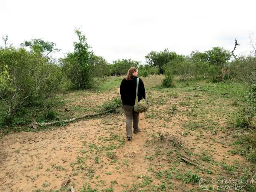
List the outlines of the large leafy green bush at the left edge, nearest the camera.
<svg viewBox="0 0 256 192">
<path fill-rule="evenodd" d="M 40 53 L 24 48 L 0 49 L 1 99 L 6 103 L 6 122 L 20 106 L 55 97 L 62 83 L 61 72 Z"/>
</svg>

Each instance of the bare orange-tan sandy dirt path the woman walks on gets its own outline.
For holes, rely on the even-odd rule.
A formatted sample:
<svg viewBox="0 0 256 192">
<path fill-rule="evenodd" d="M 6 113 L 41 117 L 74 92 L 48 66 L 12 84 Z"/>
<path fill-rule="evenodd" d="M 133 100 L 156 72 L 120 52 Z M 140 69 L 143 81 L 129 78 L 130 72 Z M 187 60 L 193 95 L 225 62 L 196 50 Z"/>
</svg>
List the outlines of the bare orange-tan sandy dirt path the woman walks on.
<svg viewBox="0 0 256 192">
<path fill-rule="evenodd" d="M 113 125 L 106 125 L 105 122 Z M 177 126 L 167 129 L 161 127 L 161 123 L 169 127 L 176 123 Z M 203 150 L 210 150 L 202 141 L 196 143 L 193 136 L 181 138 L 180 132 L 183 128 L 178 125 L 178 120 L 168 123 L 158 121 L 155 125 L 154 121 L 145 119 L 144 114 L 141 114 L 140 127 L 142 132 L 134 134 L 131 142 L 126 139 L 125 117 L 118 115 L 82 120 L 71 123 L 65 129 L 50 132 L 22 132 L 4 136 L 0 141 L 1 153 L 6 156 L 1 162 L 0 191 L 67 189 L 66 184 L 73 185 L 78 191 L 89 182 L 92 188 L 112 188 L 114 191 L 122 191 L 125 188 L 132 190 L 135 183 L 136 187 L 134 186 L 132 191 L 138 191 L 144 188 L 138 183 L 147 181 L 147 178 L 154 178 L 158 169 L 167 170 L 171 167 L 171 164 L 168 164 L 170 159 L 166 156 L 153 161 L 145 158 L 155 152 L 158 141 L 152 142 L 151 135 L 160 129 L 180 138 L 184 149 L 193 145 L 194 153 L 198 154 Z M 85 132 L 85 135 L 82 135 L 82 132 Z M 193 135 L 193 131 L 190 135 Z M 208 142 L 210 141 L 207 140 Z M 203 149 L 200 148 L 202 145 L 205 145 Z M 215 160 L 225 159 L 230 149 L 221 146 L 221 143 L 212 143 L 211 147 L 215 150 L 212 153 Z M 162 149 L 160 153 L 166 151 L 167 148 Z M 242 160 L 237 155 L 232 156 L 232 159 Z M 155 171 L 150 172 L 150 167 L 154 167 Z M 221 170 L 218 166 L 213 167 L 216 173 Z M 170 180 L 174 191 L 193 187 L 186 183 L 181 185 L 175 178 Z M 152 183 L 155 186 L 161 185 L 160 179 L 154 179 Z"/>
</svg>

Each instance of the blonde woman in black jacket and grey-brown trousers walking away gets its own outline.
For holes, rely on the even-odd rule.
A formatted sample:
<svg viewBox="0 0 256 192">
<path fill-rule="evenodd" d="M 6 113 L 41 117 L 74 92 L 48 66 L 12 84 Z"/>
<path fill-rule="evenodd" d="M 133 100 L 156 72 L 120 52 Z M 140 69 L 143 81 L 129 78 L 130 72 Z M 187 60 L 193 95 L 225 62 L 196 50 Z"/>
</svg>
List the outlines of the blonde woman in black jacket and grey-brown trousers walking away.
<svg viewBox="0 0 256 192">
<path fill-rule="evenodd" d="M 138 127 L 140 113 L 134 111 L 137 75 L 137 67 L 131 67 L 127 72 L 127 77 L 122 80 L 120 85 L 120 95 L 126 116 L 126 134 L 128 140 L 132 139 L 132 121 L 133 133 L 136 134 L 140 132 L 140 128 Z M 142 97 L 146 99 L 145 87 L 142 80 L 139 78 L 138 102 Z"/>
</svg>

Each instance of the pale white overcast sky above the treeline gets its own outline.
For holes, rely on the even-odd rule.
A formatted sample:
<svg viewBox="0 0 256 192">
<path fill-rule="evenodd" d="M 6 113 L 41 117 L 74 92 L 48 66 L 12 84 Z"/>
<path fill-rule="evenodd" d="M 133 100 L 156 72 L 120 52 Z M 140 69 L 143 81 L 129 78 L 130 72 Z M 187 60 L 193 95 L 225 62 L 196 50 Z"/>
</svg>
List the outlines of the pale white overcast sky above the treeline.
<svg viewBox="0 0 256 192">
<path fill-rule="evenodd" d="M 165 48 L 184 55 L 214 46 L 231 51 L 234 38 L 239 55 L 251 50 L 255 7 L 255 0 L 1 0 L 0 35 L 14 46 L 34 38 L 55 42 L 61 52 L 53 56 L 64 57 L 81 27 L 93 52 L 108 62 L 145 63 L 151 50 Z"/>
</svg>

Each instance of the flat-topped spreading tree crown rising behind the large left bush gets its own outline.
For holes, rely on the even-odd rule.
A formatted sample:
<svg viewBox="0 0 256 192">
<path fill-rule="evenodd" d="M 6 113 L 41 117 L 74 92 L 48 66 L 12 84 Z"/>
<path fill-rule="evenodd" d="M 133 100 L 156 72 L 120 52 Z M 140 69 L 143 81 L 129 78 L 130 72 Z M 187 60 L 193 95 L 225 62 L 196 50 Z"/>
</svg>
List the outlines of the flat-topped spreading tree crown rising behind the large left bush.
<svg viewBox="0 0 256 192">
<path fill-rule="evenodd" d="M 32 39 L 31 41 L 24 41 L 20 44 L 22 47 L 30 47 L 33 51 L 37 53 L 42 53 L 43 57 L 47 57 L 50 53 L 59 52 L 56 43 L 48 42 L 43 39 Z"/>
</svg>

